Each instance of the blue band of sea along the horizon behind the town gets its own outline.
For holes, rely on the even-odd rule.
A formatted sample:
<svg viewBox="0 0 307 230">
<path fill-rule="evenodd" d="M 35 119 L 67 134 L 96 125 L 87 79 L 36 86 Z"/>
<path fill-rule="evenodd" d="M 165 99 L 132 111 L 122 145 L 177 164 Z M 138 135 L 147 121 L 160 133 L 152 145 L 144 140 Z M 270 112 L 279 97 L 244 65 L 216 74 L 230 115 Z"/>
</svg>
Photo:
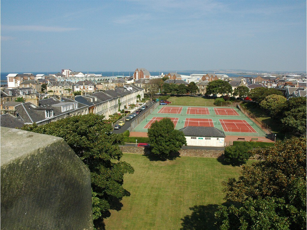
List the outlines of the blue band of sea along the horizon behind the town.
<svg viewBox="0 0 307 230">
<path fill-rule="evenodd" d="M 80 71 L 84 74 L 101 74 L 103 77 L 111 77 L 111 76 L 124 76 L 124 77 L 128 77 L 128 76 L 132 76 L 134 71 Z M 161 75 L 161 73 L 163 74 L 168 74 L 169 72 L 177 72 L 178 74 L 181 75 L 191 75 L 191 74 L 206 74 L 206 73 L 212 73 L 213 71 L 210 72 L 204 72 L 204 71 L 149 71 L 151 76 L 158 76 Z M 23 72 L 1 72 L 1 85 L 6 85 L 7 82 L 4 82 L 4 80 L 6 79 L 6 76 L 10 73 L 19 73 L 22 74 Z M 26 72 L 26 73 L 32 73 L 33 75 L 37 75 L 37 74 L 45 74 L 45 75 L 49 75 L 49 74 L 55 74 L 58 73 L 58 71 L 54 71 L 54 72 Z M 215 73 L 215 74 L 226 74 L 229 77 L 239 77 L 239 76 L 244 76 L 244 77 L 251 77 L 254 75 L 244 75 L 244 74 L 237 74 L 237 73 Z"/>
</svg>

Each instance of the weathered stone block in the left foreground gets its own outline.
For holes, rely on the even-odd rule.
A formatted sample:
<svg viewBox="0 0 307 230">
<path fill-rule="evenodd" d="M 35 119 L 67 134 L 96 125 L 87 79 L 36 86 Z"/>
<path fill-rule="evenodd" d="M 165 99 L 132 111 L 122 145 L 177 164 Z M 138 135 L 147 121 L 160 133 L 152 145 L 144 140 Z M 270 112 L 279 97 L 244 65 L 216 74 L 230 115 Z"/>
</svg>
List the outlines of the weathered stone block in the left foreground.
<svg viewBox="0 0 307 230">
<path fill-rule="evenodd" d="M 1 127 L 1 229 L 93 229 L 87 166 L 59 137 Z"/>
</svg>

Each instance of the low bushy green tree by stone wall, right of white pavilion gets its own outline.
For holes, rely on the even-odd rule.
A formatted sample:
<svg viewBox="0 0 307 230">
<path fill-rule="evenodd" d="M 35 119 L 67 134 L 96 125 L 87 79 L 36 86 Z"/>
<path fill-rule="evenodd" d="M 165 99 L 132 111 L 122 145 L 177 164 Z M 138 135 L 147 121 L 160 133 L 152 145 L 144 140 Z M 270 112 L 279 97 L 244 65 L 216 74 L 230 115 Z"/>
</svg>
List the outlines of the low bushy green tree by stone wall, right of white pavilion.
<svg viewBox="0 0 307 230">
<path fill-rule="evenodd" d="M 240 145 L 227 146 L 224 150 L 224 161 L 233 165 L 242 165 L 252 156 L 253 147 L 244 142 Z"/>
</svg>

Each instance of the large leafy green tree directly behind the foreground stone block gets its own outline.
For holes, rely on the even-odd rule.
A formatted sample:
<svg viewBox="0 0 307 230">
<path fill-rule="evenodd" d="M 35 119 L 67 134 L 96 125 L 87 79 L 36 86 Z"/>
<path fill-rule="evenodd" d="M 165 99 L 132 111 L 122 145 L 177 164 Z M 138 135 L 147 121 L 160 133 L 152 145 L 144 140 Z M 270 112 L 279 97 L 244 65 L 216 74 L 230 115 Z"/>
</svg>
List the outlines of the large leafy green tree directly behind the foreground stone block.
<svg viewBox="0 0 307 230">
<path fill-rule="evenodd" d="M 121 161 L 122 134 L 112 134 L 112 127 L 95 114 L 67 117 L 47 125 L 25 125 L 22 129 L 62 137 L 91 171 L 93 218 L 98 227 L 109 216 L 114 201 L 125 194 L 123 176 L 133 173 L 129 163 Z"/>
</svg>

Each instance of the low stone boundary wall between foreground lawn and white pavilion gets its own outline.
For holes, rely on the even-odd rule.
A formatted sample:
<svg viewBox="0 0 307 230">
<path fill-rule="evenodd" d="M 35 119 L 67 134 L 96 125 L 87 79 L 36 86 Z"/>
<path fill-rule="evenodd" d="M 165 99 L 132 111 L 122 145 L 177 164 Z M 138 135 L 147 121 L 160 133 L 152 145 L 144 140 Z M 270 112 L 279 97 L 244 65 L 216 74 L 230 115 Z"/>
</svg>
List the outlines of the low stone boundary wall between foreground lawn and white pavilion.
<svg viewBox="0 0 307 230">
<path fill-rule="evenodd" d="M 144 154 L 143 147 L 120 146 L 120 149 L 124 153 Z M 203 149 L 181 149 L 179 153 L 180 153 L 180 156 L 218 158 L 224 153 L 224 151 L 222 150 L 203 150 Z"/>
</svg>

